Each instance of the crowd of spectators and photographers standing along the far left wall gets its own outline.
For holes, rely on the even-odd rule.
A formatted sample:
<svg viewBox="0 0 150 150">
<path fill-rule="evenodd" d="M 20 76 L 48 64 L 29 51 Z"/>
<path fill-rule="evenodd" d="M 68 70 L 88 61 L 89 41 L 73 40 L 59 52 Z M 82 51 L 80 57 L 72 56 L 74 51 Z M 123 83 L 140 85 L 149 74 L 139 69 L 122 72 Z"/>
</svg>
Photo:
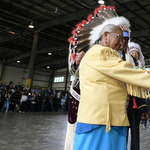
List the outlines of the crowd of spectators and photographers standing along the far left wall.
<svg viewBox="0 0 150 150">
<path fill-rule="evenodd" d="M 19 99 L 18 96 L 19 93 Z M 0 110 L 2 112 L 56 112 L 68 111 L 67 91 L 51 90 L 50 87 L 39 88 L 28 85 L 22 87 L 20 82 L 8 86 L 0 81 Z"/>
</svg>

